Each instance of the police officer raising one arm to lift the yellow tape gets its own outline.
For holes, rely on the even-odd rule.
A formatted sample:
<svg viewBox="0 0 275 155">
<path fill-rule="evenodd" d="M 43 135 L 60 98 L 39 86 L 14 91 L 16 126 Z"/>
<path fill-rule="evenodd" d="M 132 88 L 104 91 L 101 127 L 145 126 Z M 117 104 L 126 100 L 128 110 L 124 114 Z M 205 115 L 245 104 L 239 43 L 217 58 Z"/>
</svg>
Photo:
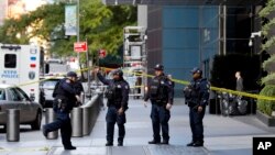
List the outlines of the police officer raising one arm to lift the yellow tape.
<svg viewBox="0 0 275 155">
<path fill-rule="evenodd" d="M 125 110 L 128 109 L 129 100 L 129 84 L 123 79 L 123 73 L 121 69 L 113 71 L 112 79 L 106 79 L 100 73 L 99 68 L 95 68 L 98 79 L 108 85 L 106 97 L 108 99 L 107 107 L 108 111 L 106 114 L 107 122 L 107 143 L 106 146 L 113 145 L 113 132 L 114 124 L 117 122 L 119 128 L 118 146 L 123 146 L 123 139 L 125 135 L 127 122 Z"/>
</svg>

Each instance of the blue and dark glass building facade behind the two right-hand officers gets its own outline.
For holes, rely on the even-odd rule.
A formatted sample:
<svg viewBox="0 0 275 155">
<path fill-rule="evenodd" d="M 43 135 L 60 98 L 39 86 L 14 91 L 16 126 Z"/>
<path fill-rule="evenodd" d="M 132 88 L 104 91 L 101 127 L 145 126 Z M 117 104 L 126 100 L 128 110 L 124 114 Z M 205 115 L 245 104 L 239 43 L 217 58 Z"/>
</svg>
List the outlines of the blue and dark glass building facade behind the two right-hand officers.
<svg viewBox="0 0 275 155">
<path fill-rule="evenodd" d="M 253 7 L 148 5 L 148 73 L 162 63 L 176 79 L 190 80 L 194 67 L 210 78 L 215 55 L 252 53 L 254 14 Z M 176 85 L 176 96 L 183 87 Z"/>
</svg>

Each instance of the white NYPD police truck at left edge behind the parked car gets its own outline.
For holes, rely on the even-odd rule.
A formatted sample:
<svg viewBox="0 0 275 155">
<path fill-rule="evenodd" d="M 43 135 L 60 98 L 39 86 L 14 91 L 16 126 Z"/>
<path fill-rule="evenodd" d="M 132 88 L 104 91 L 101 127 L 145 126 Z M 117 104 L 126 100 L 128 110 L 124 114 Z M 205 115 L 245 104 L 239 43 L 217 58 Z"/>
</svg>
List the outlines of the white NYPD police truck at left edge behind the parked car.
<svg viewBox="0 0 275 155">
<path fill-rule="evenodd" d="M 19 86 L 38 102 L 40 62 L 38 46 L 0 43 L 0 85 Z"/>
</svg>

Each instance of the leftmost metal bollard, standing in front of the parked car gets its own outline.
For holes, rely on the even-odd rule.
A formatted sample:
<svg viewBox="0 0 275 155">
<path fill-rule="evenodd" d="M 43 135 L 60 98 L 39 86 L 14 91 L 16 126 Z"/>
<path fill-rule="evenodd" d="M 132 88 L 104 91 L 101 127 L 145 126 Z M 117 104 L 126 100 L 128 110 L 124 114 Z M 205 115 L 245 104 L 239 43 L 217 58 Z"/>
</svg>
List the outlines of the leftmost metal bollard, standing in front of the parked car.
<svg viewBox="0 0 275 155">
<path fill-rule="evenodd" d="M 18 142 L 20 139 L 20 110 L 7 110 L 7 141 Z"/>
</svg>

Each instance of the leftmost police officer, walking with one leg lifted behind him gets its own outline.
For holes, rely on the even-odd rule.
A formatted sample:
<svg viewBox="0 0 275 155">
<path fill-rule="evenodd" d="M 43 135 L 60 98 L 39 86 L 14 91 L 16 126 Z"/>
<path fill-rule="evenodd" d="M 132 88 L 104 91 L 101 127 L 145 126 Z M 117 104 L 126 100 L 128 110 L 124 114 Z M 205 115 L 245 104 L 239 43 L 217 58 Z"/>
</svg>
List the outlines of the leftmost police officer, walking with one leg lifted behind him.
<svg viewBox="0 0 275 155">
<path fill-rule="evenodd" d="M 67 77 L 61 79 L 56 86 L 55 100 L 53 109 L 56 113 L 56 120 L 53 123 L 43 125 L 43 134 L 47 136 L 48 132 L 61 129 L 62 143 L 65 150 L 76 150 L 72 145 L 72 124 L 69 112 L 77 101 L 80 101 L 79 96 L 76 95 L 74 82 L 77 79 L 77 74 L 69 71 Z"/>
</svg>

